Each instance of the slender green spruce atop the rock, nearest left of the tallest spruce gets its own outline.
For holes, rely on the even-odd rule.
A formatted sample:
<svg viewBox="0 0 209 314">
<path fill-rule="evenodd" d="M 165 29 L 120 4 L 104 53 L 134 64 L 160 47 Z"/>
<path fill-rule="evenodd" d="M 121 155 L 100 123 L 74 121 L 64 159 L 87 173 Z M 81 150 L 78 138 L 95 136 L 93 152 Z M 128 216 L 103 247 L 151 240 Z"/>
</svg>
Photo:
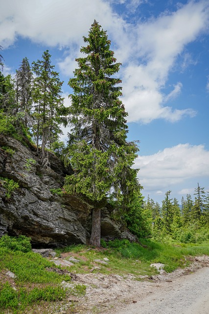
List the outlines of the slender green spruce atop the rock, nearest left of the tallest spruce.
<svg viewBox="0 0 209 314">
<path fill-rule="evenodd" d="M 33 62 L 34 78 L 32 98 L 34 102 L 33 133 L 36 138 L 37 151 L 39 141 L 42 142 L 41 159 L 44 166 L 49 165 L 48 155 L 45 148 L 50 148 L 54 141 L 62 134 L 61 123 L 65 124 L 66 119 L 62 116 L 65 112 L 63 98 L 61 97 L 61 86 L 59 74 L 53 71 L 51 55 L 48 50 L 43 53 L 42 60 Z"/>
</svg>

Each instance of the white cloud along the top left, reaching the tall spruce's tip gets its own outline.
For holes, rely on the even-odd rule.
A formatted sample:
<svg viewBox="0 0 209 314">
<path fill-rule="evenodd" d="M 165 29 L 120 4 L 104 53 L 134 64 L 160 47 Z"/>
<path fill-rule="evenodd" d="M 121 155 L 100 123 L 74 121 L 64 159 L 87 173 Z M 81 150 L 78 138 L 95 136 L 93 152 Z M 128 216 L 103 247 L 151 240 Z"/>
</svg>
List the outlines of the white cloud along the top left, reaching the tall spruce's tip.
<svg viewBox="0 0 209 314">
<path fill-rule="evenodd" d="M 18 35 L 49 46 L 82 43 L 94 19 L 107 25 L 113 19 L 102 0 L 9 0 L 1 2 L 0 43 L 11 45 Z"/>
</svg>

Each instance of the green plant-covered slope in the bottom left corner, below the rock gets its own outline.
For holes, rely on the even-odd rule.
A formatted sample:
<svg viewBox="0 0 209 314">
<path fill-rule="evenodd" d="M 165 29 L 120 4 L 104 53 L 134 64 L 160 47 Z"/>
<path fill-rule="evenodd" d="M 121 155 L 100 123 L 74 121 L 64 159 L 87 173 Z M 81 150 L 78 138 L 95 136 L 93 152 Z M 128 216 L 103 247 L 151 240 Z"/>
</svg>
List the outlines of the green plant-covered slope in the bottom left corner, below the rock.
<svg viewBox="0 0 209 314">
<path fill-rule="evenodd" d="M 84 285 L 63 288 L 61 282 L 70 282 L 70 276 L 47 271 L 51 266 L 57 267 L 37 253 L 0 247 L 0 313 L 38 313 L 34 305 L 43 307 L 41 312 L 46 313 L 51 302 L 85 292 Z M 8 270 L 15 278 L 6 275 Z"/>
</svg>

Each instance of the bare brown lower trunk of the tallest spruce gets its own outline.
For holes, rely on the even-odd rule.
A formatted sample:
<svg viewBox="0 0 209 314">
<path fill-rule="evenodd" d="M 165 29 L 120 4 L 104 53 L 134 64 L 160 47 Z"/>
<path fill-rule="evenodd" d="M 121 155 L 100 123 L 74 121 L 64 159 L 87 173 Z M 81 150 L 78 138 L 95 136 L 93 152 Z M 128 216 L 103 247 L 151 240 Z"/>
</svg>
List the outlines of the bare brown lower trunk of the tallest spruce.
<svg viewBox="0 0 209 314">
<path fill-rule="evenodd" d="M 90 238 L 90 244 L 96 247 L 100 247 L 100 235 L 101 235 L 101 209 L 94 208 L 92 212 L 92 234 Z"/>
</svg>

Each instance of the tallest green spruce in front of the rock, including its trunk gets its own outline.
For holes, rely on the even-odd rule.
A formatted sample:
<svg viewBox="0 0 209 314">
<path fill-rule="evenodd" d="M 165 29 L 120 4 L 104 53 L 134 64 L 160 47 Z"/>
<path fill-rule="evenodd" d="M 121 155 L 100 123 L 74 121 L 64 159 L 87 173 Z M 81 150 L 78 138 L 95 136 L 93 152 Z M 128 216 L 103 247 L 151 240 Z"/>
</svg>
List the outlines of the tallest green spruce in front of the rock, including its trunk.
<svg viewBox="0 0 209 314">
<path fill-rule="evenodd" d="M 127 141 L 127 113 L 119 100 L 119 71 L 106 31 L 94 21 L 84 57 L 69 85 L 71 97 L 68 160 L 74 175 L 67 176 L 65 188 L 81 193 L 94 203 L 90 243 L 100 246 L 100 214 L 107 198 L 128 204 L 139 190 L 137 170 L 132 169 L 138 146 Z"/>
</svg>

